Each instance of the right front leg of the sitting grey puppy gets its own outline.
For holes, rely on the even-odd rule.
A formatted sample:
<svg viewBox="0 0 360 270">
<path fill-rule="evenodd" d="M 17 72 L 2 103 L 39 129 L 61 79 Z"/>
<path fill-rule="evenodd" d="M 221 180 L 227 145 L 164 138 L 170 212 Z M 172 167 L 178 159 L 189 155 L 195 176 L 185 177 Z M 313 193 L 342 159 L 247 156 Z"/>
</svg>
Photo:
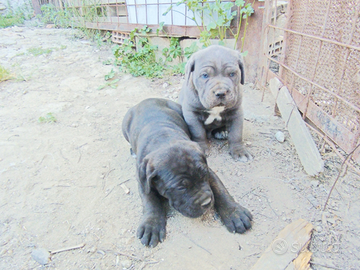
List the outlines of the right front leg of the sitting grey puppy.
<svg viewBox="0 0 360 270">
<path fill-rule="evenodd" d="M 242 134 L 243 134 L 243 124 L 244 124 L 244 115 L 243 111 L 240 108 L 234 119 L 229 125 L 229 150 L 230 155 L 235 159 L 241 162 L 247 162 L 253 159 L 250 152 L 246 149 L 243 143 Z"/>
</svg>

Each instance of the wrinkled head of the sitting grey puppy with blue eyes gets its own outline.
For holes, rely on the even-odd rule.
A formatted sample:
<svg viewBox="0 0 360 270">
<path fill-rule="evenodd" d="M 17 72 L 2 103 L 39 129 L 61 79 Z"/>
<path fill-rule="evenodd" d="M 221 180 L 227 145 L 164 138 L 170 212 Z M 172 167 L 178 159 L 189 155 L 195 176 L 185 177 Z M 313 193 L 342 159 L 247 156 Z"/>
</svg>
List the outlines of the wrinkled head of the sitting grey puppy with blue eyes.
<svg viewBox="0 0 360 270">
<path fill-rule="evenodd" d="M 185 83 L 206 109 L 232 108 L 241 102 L 244 63 L 238 51 L 210 46 L 194 53 L 185 67 Z"/>
</svg>

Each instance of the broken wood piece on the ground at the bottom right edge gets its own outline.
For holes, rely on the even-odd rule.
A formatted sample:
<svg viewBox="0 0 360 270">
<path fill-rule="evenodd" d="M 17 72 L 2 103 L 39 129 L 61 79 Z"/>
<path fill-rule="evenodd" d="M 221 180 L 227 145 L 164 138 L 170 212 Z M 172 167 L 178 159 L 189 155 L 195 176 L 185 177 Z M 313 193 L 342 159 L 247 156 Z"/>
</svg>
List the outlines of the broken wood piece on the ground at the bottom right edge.
<svg viewBox="0 0 360 270">
<path fill-rule="evenodd" d="M 310 269 L 312 253 L 307 250 L 307 246 L 312 230 L 313 225 L 304 219 L 290 223 L 264 251 L 251 270 Z"/>
</svg>

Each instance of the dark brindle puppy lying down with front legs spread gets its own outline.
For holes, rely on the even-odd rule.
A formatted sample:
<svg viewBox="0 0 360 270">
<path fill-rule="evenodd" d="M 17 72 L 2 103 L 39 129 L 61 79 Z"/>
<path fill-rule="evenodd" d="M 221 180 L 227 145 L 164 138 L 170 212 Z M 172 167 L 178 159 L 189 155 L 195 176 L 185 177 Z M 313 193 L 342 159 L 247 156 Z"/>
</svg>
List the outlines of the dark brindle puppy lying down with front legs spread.
<svg viewBox="0 0 360 270">
<path fill-rule="evenodd" d="M 143 217 L 137 231 L 141 243 L 155 247 L 165 239 L 166 201 L 196 218 L 212 205 L 230 232 L 251 228 L 250 212 L 236 203 L 207 166 L 199 145 L 190 140 L 181 106 L 165 99 L 147 99 L 129 109 L 124 137 L 136 154 Z"/>
</svg>

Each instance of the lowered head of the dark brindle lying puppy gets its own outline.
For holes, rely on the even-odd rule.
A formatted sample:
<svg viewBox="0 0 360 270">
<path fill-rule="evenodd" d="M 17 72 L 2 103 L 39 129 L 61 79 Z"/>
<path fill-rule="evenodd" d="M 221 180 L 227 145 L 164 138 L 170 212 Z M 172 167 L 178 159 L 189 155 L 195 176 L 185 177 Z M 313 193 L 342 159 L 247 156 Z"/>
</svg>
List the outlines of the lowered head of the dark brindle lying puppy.
<svg viewBox="0 0 360 270">
<path fill-rule="evenodd" d="M 205 156 L 197 143 L 184 141 L 146 156 L 139 166 L 145 193 L 157 192 L 187 217 L 199 217 L 213 204 Z"/>
</svg>

